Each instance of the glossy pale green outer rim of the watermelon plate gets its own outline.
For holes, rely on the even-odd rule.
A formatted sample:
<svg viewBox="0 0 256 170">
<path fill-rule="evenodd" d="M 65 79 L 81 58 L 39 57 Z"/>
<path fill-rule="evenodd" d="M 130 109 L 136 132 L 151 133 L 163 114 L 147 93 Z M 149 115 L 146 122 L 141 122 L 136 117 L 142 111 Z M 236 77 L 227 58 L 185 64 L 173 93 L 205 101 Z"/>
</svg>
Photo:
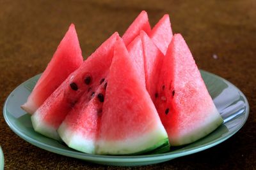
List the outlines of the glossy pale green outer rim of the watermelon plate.
<svg viewBox="0 0 256 170">
<path fill-rule="evenodd" d="M 228 80 L 225 80 L 225 78 L 222 78 L 222 77 L 220 77 L 216 74 L 210 73 L 208 71 L 204 71 L 202 69 L 200 69 L 200 72 L 201 72 L 201 74 L 202 74 L 202 72 L 204 72 L 205 74 L 214 76 L 215 78 L 225 81 L 225 83 L 234 87 L 240 93 L 240 95 L 243 97 L 244 103 L 246 104 L 246 108 L 244 110 L 245 111 L 244 115 L 246 116 L 246 118 L 244 119 L 243 124 L 240 124 L 239 127 L 237 127 L 234 132 L 228 134 L 227 136 L 223 136 L 223 137 L 214 139 L 213 141 L 206 143 L 204 145 L 194 146 L 192 148 L 187 148 L 182 151 L 171 151 L 171 152 L 158 153 L 158 154 L 152 154 L 152 155 L 94 155 L 94 154 L 79 152 L 76 150 L 73 151 L 73 150 L 65 150 L 62 148 L 56 148 L 54 146 L 47 145 L 45 143 L 42 143 L 38 140 L 35 140 L 35 139 L 23 134 L 22 132 L 19 131 L 19 129 L 17 129 L 17 127 L 15 127 L 15 124 L 12 124 L 12 121 L 9 120 L 8 115 L 7 115 L 8 110 L 7 110 L 6 104 L 10 100 L 10 97 L 15 92 L 15 90 L 19 89 L 22 85 L 24 85 L 24 83 L 26 83 L 27 81 L 29 81 L 32 78 L 35 78 L 35 76 L 38 76 L 40 74 L 36 74 L 35 76 L 29 78 L 28 80 L 22 82 L 19 86 L 17 86 L 15 89 L 13 89 L 12 92 L 8 95 L 8 97 L 6 98 L 6 100 L 4 102 L 4 106 L 3 106 L 4 120 L 5 120 L 6 124 L 8 124 L 10 129 L 12 129 L 12 131 L 15 132 L 15 134 L 17 134 L 20 138 L 24 139 L 28 143 L 31 143 L 32 145 L 35 145 L 38 148 L 42 148 L 49 152 L 58 153 L 60 155 L 64 155 L 64 156 L 68 156 L 68 157 L 74 157 L 77 159 L 94 161 L 94 162 L 100 161 L 100 162 L 123 162 L 123 163 L 150 162 L 150 161 L 156 161 L 156 160 L 171 160 L 171 159 L 175 159 L 178 157 L 182 157 L 184 155 L 190 155 L 192 153 L 201 152 L 203 150 L 206 150 L 208 148 L 211 148 L 213 146 L 216 146 L 216 145 L 222 143 L 223 141 L 227 140 L 228 138 L 230 138 L 231 136 L 236 134 L 236 132 L 239 131 L 243 127 L 243 125 L 246 123 L 246 121 L 248 120 L 248 116 L 250 113 L 250 106 L 249 106 L 248 100 L 246 99 L 246 96 L 243 94 L 243 92 L 241 92 L 241 90 L 238 89 L 236 87 L 236 85 L 234 85 L 233 83 L 230 83 L 230 81 L 228 81 Z"/>
</svg>

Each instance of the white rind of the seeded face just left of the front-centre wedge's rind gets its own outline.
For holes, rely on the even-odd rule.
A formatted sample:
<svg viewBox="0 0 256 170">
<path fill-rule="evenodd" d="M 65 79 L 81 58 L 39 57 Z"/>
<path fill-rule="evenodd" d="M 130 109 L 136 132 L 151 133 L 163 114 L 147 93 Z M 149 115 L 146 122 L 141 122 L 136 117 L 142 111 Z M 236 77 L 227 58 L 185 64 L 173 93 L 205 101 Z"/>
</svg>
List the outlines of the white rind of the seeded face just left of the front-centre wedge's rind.
<svg viewBox="0 0 256 170">
<path fill-rule="evenodd" d="M 83 134 L 70 131 L 65 123 L 60 125 L 58 134 L 68 147 L 85 153 L 95 153 L 95 140 L 84 138 Z"/>
</svg>

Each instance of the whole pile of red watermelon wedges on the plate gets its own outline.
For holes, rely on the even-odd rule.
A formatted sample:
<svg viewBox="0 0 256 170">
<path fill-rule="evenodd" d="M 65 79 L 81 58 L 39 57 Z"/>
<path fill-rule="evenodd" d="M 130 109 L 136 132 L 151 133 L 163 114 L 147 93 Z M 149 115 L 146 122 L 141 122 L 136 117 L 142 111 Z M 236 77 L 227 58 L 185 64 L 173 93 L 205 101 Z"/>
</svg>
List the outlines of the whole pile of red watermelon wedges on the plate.
<svg viewBox="0 0 256 170">
<path fill-rule="evenodd" d="M 86 60 L 70 25 L 21 108 L 36 132 L 105 155 L 167 152 L 223 122 L 169 15 L 151 29 L 146 11 Z"/>
</svg>

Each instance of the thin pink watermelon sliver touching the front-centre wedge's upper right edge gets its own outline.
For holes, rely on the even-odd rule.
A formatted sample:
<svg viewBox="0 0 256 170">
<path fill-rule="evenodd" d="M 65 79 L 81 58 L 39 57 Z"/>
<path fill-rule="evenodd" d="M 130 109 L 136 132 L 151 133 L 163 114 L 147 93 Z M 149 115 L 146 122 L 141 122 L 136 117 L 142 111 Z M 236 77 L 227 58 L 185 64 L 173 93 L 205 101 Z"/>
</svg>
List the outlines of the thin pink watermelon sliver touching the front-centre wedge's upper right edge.
<svg viewBox="0 0 256 170">
<path fill-rule="evenodd" d="M 134 60 L 134 67 L 136 69 L 136 73 L 140 75 L 141 83 L 146 86 L 143 47 L 140 36 L 137 36 L 131 43 L 129 43 L 127 50 L 131 59 Z"/>
</svg>

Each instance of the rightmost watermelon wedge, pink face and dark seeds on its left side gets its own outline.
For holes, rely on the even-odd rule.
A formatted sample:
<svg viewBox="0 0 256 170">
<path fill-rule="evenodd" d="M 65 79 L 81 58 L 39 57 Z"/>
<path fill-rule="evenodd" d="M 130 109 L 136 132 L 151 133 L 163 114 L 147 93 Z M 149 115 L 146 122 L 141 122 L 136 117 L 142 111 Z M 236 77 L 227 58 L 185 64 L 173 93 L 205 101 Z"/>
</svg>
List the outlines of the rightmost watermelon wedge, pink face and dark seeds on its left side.
<svg viewBox="0 0 256 170">
<path fill-rule="evenodd" d="M 157 111 L 173 146 L 196 141 L 223 122 L 180 34 L 164 57 L 158 96 Z"/>
</svg>

